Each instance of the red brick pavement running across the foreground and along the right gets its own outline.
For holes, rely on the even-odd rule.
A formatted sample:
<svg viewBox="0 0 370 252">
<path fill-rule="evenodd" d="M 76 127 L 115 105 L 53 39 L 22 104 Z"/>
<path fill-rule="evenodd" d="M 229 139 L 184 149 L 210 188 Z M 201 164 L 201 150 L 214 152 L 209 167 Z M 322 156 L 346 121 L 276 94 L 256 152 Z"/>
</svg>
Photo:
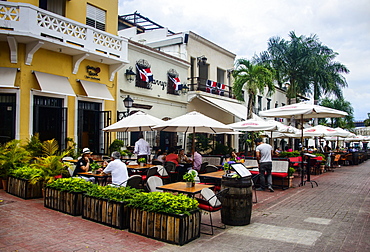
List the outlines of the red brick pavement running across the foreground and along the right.
<svg viewBox="0 0 370 252">
<path fill-rule="evenodd" d="M 319 186 L 257 192 L 250 225 L 202 234 L 181 247 L 0 190 L 0 251 L 370 251 L 370 160 L 311 180 Z"/>
</svg>

